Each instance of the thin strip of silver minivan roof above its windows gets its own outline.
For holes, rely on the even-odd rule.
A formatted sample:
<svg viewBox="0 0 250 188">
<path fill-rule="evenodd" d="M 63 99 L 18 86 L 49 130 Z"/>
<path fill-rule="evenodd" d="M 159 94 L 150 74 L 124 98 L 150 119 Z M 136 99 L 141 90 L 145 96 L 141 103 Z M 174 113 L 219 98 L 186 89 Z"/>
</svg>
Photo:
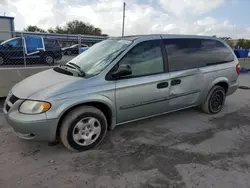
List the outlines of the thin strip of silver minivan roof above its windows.
<svg viewBox="0 0 250 188">
<path fill-rule="evenodd" d="M 203 36 L 203 35 L 182 35 L 182 34 L 149 34 L 149 35 L 128 35 L 124 37 L 110 37 L 110 39 L 123 39 L 123 40 L 136 40 L 136 39 L 149 39 L 155 37 L 162 37 L 163 39 L 169 38 L 202 38 L 202 39 L 214 39 L 219 40 L 216 37 L 212 36 Z"/>
</svg>

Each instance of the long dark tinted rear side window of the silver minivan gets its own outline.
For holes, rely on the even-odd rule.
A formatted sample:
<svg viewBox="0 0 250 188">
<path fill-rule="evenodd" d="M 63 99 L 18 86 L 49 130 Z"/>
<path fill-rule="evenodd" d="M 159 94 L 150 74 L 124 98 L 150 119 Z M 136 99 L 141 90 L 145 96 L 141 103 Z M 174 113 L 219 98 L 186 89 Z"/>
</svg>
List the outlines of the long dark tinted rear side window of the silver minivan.
<svg viewBox="0 0 250 188">
<path fill-rule="evenodd" d="M 211 39 L 165 39 L 170 71 L 231 62 L 234 56 L 221 42 Z"/>
</svg>

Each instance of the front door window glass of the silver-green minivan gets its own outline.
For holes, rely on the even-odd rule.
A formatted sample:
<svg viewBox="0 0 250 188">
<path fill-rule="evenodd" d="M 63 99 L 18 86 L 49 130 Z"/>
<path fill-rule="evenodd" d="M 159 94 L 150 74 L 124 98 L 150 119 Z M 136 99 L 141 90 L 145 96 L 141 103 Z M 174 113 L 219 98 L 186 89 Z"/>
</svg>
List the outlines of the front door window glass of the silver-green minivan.
<svg viewBox="0 0 250 188">
<path fill-rule="evenodd" d="M 162 51 L 159 41 L 146 41 L 137 44 L 119 62 L 132 69 L 130 76 L 143 76 L 164 72 Z M 129 77 L 130 77 L 129 76 Z"/>
</svg>

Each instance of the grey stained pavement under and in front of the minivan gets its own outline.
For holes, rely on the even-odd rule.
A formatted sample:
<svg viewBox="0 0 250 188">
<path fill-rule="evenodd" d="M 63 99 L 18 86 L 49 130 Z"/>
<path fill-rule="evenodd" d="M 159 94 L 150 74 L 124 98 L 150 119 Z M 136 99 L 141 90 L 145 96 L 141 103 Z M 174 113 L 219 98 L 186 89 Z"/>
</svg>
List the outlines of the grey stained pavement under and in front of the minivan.
<svg viewBox="0 0 250 188">
<path fill-rule="evenodd" d="M 83 153 L 21 140 L 0 114 L 3 188 L 249 188 L 249 167 L 250 90 L 218 115 L 189 109 L 117 127 Z"/>
</svg>

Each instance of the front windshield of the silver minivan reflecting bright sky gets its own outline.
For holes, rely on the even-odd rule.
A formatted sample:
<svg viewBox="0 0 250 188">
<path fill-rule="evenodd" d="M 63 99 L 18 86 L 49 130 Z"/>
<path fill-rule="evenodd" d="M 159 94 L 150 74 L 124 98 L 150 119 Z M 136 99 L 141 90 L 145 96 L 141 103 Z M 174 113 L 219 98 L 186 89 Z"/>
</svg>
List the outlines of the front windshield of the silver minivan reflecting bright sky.
<svg viewBox="0 0 250 188">
<path fill-rule="evenodd" d="M 91 46 L 68 63 L 76 64 L 86 75 L 94 76 L 103 71 L 131 43 L 130 40 L 106 39 Z"/>
</svg>

